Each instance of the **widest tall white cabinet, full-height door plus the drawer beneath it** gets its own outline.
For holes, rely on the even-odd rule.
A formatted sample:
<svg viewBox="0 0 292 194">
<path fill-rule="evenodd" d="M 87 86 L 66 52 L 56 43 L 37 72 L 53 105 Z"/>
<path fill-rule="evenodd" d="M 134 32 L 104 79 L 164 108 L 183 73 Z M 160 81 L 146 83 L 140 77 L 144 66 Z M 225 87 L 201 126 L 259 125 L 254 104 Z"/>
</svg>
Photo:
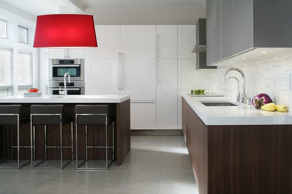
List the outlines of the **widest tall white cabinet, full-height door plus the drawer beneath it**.
<svg viewBox="0 0 292 194">
<path fill-rule="evenodd" d="M 131 94 L 131 129 L 156 129 L 156 26 L 121 26 L 121 94 Z"/>
</svg>

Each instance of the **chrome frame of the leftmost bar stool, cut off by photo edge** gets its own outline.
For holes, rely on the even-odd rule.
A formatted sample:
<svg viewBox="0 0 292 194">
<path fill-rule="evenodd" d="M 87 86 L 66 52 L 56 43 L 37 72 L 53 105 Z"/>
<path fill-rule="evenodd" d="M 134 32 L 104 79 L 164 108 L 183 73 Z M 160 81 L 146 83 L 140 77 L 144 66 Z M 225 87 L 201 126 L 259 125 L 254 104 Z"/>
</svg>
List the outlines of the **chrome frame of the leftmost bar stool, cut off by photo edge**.
<svg viewBox="0 0 292 194">
<path fill-rule="evenodd" d="M 8 107 L 8 106 L 19 106 L 19 113 L 18 114 L 0 114 L 0 116 L 17 116 L 17 122 L 13 123 L 13 125 L 17 125 L 17 146 L 9 146 L 9 125 L 12 125 L 9 123 L 9 125 L 7 125 L 7 158 L 6 160 L 3 160 L 0 162 L 3 163 L 7 160 L 9 160 L 9 148 L 17 148 L 17 167 L 0 167 L 0 169 L 19 169 L 21 168 L 22 166 L 28 164 L 30 161 L 28 161 L 27 163 L 24 163 L 23 165 L 19 166 L 19 148 L 31 148 L 31 146 L 19 146 L 19 126 L 22 126 L 22 125 L 25 125 L 27 123 L 20 123 L 19 121 L 19 115 L 20 115 L 20 112 L 21 112 L 21 105 L 1 105 L 1 106 L 5 106 L 5 107 Z M 0 125 L 1 124 L 4 124 L 5 122 L 0 122 Z"/>
</svg>

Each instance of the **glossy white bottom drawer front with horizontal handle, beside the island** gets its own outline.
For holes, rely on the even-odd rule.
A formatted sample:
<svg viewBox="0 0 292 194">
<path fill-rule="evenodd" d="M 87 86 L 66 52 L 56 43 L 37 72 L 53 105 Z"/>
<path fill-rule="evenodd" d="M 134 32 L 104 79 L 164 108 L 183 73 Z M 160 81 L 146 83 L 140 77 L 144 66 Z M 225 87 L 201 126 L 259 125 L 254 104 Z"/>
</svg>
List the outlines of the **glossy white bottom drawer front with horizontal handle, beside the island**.
<svg viewBox="0 0 292 194">
<path fill-rule="evenodd" d="M 131 101 L 131 129 L 156 129 L 156 101 Z"/>
</svg>

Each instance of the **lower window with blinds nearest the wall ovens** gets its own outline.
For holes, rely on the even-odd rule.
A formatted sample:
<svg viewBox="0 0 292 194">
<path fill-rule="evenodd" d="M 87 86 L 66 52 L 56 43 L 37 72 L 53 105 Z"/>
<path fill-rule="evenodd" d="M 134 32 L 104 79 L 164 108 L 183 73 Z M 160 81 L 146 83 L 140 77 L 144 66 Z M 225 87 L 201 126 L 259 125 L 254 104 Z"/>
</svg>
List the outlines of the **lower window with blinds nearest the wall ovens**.
<svg viewBox="0 0 292 194">
<path fill-rule="evenodd" d="M 18 95 L 32 88 L 32 53 L 17 52 Z"/>
</svg>

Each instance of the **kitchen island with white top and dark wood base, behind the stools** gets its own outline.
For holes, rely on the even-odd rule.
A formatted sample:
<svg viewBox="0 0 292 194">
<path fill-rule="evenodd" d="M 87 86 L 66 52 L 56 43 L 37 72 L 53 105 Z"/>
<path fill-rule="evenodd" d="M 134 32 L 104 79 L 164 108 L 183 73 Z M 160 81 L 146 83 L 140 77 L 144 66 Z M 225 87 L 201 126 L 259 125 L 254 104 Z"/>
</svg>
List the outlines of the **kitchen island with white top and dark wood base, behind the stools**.
<svg viewBox="0 0 292 194">
<path fill-rule="evenodd" d="M 109 115 L 114 116 L 114 153 L 115 159 L 117 159 L 117 164 L 120 165 L 124 160 L 130 149 L 130 95 L 69 95 L 67 97 L 63 97 L 60 95 L 42 95 L 37 97 L 24 97 L 24 96 L 9 96 L 5 98 L 0 98 L 1 105 L 8 104 L 20 104 L 22 105 L 22 116 L 30 116 L 30 106 L 32 104 L 37 105 L 54 105 L 54 104 L 63 104 L 64 105 L 64 116 L 73 116 L 73 154 L 74 158 L 76 158 L 76 126 L 75 126 L 75 106 L 78 104 L 83 105 L 100 105 L 107 104 L 109 105 Z M 109 126 L 111 127 L 111 126 Z M 44 153 L 44 130 L 43 126 L 36 126 L 36 158 L 43 158 Z M 47 141 L 49 143 L 58 143 L 60 142 L 60 132 L 58 132 L 59 126 L 47 126 Z M 90 133 L 94 130 L 101 129 L 102 126 L 88 126 L 88 137 L 90 137 Z M 12 133 L 9 132 L 9 144 L 15 143 L 15 134 L 16 127 L 11 126 L 9 129 Z M 71 142 L 71 126 L 67 124 L 63 126 L 63 146 L 68 146 Z M 80 134 L 79 134 L 80 131 Z M 100 130 L 101 131 L 101 130 Z M 109 130 L 111 131 L 111 130 Z M 99 132 L 99 135 L 103 135 L 104 132 Z M 6 126 L 0 126 L 0 157 L 3 158 L 7 153 L 7 130 Z M 81 149 L 83 153 L 85 153 L 85 126 L 78 127 L 78 150 Z M 105 140 L 102 138 L 99 139 L 98 136 L 94 137 L 91 143 L 104 143 Z M 98 140 L 98 141 L 97 141 Z M 80 142 L 80 143 L 79 143 Z M 17 142 L 16 142 L 17 143 Z M 30 124 L 26 124 L 22 126 L 20 130 L 20 145 L 22 146 L 30 146 Z M 90 143 L 90 142 L 88 142 Z M 112 141 L 109 141 L 109 144 L 112 144 Z M 80 146 L 79 146 L 80 145 Z M 96 146 L 96 145 L 95 145 Z M 99 145 L 100 146 L 100 145 Z M 37 150 L 38 149 L 38 150 Z M 70 148 L 63 148 L 63 158 L 69 159 L 71 156 Z M 48 158 L 58 158 L 60 157 L 60 153 L 56 151 L 56 148 L 50 148 L 47 151 Z M 11 149 L 12 156 L 16 158 L 17 150 Z M 110 155 L 110 154 L 109 154 Z M 93 150 L 88 151 L 88 159 L 95 157 L 96 154 Z M 78 155 L 78 158 L 84 158 L 85 155 Z M 105 151 L 99 150 L 98 156 L 100 159 L 105 157 Z M 5 158 L 5 157 L 4 157 Z M 20 152 L 20 158 L 30 158 L 30 149 L 22 148 Z"/>
</svg>

